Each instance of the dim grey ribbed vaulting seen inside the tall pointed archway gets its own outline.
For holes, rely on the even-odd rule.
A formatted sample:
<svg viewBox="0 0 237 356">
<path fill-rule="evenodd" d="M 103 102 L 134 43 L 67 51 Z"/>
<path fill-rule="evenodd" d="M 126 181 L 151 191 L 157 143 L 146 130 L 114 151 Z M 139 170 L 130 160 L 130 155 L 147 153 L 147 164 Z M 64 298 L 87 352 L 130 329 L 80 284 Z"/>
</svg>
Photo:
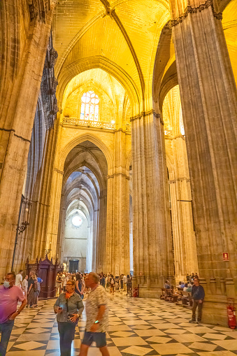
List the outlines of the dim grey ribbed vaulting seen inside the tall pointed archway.
<svg viewBox="0 0 237 356">
<path fill-rule="evenodd" d="M 79 209 L 92 220 L 106 189 L 106 157 L 89 141 L 74 147 L 64 164 L 64 208 L 69 215 Z"/>
</svg>

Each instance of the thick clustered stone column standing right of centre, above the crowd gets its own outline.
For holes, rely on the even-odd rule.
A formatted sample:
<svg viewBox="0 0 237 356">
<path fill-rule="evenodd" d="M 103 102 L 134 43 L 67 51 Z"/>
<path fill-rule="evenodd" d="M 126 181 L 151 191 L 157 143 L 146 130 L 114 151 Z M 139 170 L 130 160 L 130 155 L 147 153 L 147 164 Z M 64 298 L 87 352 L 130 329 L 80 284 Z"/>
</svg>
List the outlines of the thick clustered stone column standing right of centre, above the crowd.
<svg viewBox="0 0 237 356">
<path fill-rule="evenodd" d="M 157 280 L 173 283 L 171 220 L 163 122 L 155 111 L 131 118 L 133 171 L 134 276 L 146 276 L 150 288 L 141 297 L 157 297 Z M 135 279 L 136 279 L 135 278 Z"/>
</svg>

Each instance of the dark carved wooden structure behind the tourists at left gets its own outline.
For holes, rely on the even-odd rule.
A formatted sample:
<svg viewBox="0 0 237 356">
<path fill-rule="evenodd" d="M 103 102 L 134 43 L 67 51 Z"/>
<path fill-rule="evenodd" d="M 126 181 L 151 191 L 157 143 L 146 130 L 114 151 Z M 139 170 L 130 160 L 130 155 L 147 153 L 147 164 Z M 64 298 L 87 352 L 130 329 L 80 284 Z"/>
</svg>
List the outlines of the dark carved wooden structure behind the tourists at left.
<svg viewBox="0 0 237 356">
<path fill-rule="evenodd" d="M 39 298 L 46 299 L 55 297 L 57 272 L 62 271 L 62 266 L 58 263 L 57 259 L 55 264 L 52 263 L 52 258 L 51 260 L 48 259 L 48 255 L 45 255 L 43 261 L 37 257 L 35 263 L 30 263 L 29 259 L 27 259 L 26 271 L 28 276 L 30 271 L 35 271 L 37 276 L 43 279 Z"/>
</svg>

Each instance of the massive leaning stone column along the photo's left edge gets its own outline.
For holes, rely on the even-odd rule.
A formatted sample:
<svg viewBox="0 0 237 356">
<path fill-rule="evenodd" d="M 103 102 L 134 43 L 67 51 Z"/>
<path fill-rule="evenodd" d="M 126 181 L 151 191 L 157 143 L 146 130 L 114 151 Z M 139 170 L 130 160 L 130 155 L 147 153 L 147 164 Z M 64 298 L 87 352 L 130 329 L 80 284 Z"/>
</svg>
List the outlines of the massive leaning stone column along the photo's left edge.
<svg viewBox="0 0 237 356">
<path fill-rule="evenodd" d="M 15 10 L 15 6 L 17 5 L 14 3 L 11 8 Z M 20 43 L 20 46 L 24 48 L 24 52 L 20 53 L 19 46 L 16 58 L 20 58 L 20 61 L 11 64 L 15 67 L 14 73 L 0 88 L 2 94 L 0 103 L 1 276 L 6 271 L 10 271 L 13 258 L 15 227 L 24 184 L 24 173 L 27 169 L 31 129 L 34 124 L 34 114 L 41 87 L 41 76 L 54 7 L 55 3 L 52 2 L 50 8 L 45 8 L 41 13 L 34 13 L 34 5 L 32 4 L 31 21 L 29 22 L 29 31 L 25 42 L 22 31 L 22 36 L 13 38 L 15 42 L 14 45 L 13 43 L 11 44 L 14 48 L 17 48 L 18 43 Z M 24 10 L 27 11 L 29 9 Z M 20 13 L 19 8 L 17 8 L 17 11 Z M 41 17 L 43 13 L 44 18 Z M 29 20 L 29 15 L 26 18 L 26 22 L 27 20 Z M 16 33 L 18 33 L 17 31 L 20 31 L 20 29 L 17 28 Z"/>
</svg>

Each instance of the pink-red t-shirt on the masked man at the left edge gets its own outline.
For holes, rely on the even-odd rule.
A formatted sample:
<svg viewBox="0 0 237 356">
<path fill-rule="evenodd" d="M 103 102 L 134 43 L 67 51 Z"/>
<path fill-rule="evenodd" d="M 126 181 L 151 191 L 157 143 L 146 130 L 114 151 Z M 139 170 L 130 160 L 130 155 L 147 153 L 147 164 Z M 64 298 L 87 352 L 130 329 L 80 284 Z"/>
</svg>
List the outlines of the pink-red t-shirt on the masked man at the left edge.
<svg viewBox="0 0 237 356">
<path fill-rule="evenodd" d="M 23 301 L 24 294 L 20 287 L 13 285 L 5 288 L 0 285 L 0 324 L 6 322 L 11 314 L 17 310 L 17 301 Z"/>
</svg>

